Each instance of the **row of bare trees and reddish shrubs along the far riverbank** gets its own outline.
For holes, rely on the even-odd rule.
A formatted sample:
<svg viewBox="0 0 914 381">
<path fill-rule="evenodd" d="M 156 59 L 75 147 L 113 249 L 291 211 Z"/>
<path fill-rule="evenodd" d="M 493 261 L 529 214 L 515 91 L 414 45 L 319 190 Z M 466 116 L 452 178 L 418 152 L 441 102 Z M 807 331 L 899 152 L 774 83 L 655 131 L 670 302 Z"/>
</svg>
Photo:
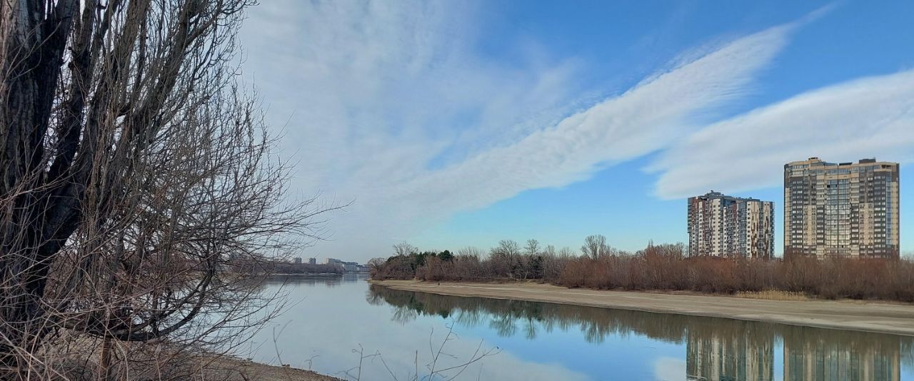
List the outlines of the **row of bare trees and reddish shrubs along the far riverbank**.
<svg viewBox="0 0 914 381">
<path fill-rule="evenodd" d="M 828 299 L 914 302 L 914 262 L 909 259 L 688 258 L 681 243 L 651 243 L 636 252 L 626 252 L 611 248 L 602 236 L 585 238 L 580 253 L 568 248 L 556 251 L 551 246 L 544 249 L 536 239 L 528 240 L 523 249 L 515 241 L 503 240 L 485 258 L 482 250 L 474 248 L 458 250 L 452 259 L 420 258 L 418 250 L 409 248 L 395 250 L 388 259 L 373 259 L 372 277 L 537 280 L 604 290 L 789 291 Z"/>
</svg>

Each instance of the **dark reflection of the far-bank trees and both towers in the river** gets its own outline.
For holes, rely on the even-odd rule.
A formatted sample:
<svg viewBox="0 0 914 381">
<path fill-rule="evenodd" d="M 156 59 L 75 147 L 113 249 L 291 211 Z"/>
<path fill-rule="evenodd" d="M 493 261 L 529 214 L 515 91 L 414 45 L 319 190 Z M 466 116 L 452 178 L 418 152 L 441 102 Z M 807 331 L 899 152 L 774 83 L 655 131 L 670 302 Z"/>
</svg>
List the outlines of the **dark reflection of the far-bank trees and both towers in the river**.
<svg viewBox="0 0 914 381">
<path fill-rule="evenodd" d="M 440 316 L 464 327 L 488 326 L 500 336 L 528 340 L 543 332 L 579 330 L 591 344 L 629 335 L 685 344 L 689 380 L 899 380 L 901 366 L 914 365 L 914 338 L 891 334 L 456 297 L 377 285 L 370 286 L 367 301 L 393 306 L 392 320 L 399 324 Z M 776 356 L 781 357 L 778 371 Z"/>
</svg>

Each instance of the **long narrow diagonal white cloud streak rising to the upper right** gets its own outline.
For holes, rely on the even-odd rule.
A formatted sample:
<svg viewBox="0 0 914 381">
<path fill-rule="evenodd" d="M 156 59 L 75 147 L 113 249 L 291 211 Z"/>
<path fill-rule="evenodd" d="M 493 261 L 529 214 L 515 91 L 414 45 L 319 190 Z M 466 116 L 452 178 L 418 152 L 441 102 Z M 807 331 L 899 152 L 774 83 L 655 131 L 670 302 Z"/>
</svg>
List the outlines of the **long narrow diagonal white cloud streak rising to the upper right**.
<svg viewBox="0 0 914 381">
<path fill-rule="evenodd" d="M 516 143 L 420 175 L 394 192 L 418 201 L 412 205 L 420 209 L 400 211 L 411 218 L 487 206 L 527 189 L 567 185 L 600 164 L 664 148 L 715 106 L 742 94 L 784 44 L 787 30 L 779 26 L 739 38 Z"/>
</svg>

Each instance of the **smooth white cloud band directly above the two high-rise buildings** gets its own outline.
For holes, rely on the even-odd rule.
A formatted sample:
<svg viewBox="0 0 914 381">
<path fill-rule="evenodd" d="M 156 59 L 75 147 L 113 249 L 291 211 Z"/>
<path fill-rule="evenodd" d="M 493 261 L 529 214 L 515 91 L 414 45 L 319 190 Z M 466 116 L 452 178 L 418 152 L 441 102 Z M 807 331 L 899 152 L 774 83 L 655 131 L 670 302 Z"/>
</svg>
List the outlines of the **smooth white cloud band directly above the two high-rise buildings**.
<svg viewBox="0 0 914 381">
<path fill-rule="evenodd" d="M 818 156 L 914 161 L 914 70 L 813 90 L 707 126 L 652 165 L 656 193 L 695 196 L 781 185 L 783 164 Z"/>
</svg>

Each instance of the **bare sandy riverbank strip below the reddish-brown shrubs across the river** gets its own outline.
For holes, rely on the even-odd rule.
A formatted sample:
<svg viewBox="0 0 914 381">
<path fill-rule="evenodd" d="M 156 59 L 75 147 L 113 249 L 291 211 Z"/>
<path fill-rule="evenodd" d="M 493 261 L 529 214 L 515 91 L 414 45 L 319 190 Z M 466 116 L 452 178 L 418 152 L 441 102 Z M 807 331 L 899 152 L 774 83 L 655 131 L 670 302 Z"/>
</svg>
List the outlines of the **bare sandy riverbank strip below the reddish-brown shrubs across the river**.
<svg viewBox="0 0 914 381">
<path fill-rule="evenodd" d="M 770 301 L 715 295 L 567 289 L 532 282 L 372 280 L 395 290 L 575 304 L 914 336 L 914 305 L 860 301 Z"/>
</svg>

